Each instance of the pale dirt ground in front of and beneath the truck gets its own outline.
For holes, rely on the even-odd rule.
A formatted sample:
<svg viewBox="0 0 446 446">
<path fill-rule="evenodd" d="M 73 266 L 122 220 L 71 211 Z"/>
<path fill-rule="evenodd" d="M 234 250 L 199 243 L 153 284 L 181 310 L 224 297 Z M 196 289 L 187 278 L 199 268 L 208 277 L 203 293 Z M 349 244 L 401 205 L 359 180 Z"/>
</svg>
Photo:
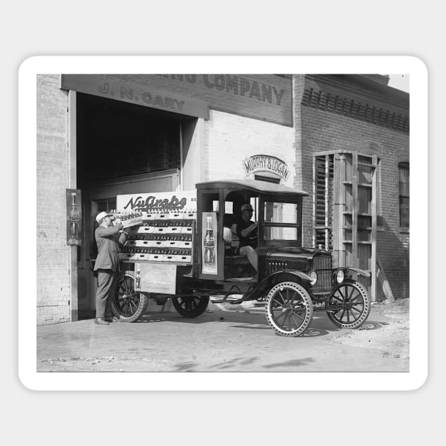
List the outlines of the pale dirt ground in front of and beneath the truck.
<svg viewBox="0 0 446 446">
<path fill-rule="evenodd" d="M 373 304 L 355 330 L 315 313 L 303 336 L 276 336 L 263 308 L 195 319 L 151 313 L 135 324 L 38 327 L 38 372 L 408 372 L 409 302 Z"/>
</svg>

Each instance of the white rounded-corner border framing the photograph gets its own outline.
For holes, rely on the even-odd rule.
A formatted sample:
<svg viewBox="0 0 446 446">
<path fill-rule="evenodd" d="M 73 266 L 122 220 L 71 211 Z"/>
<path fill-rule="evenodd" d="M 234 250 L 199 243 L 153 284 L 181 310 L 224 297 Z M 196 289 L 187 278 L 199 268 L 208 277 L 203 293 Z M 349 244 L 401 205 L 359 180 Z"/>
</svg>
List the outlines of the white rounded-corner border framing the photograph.
<svg viewBox="0 0 446 446">
<path fill-rule="evenodd" d="M 18 72 L 18 234 L 36 223 L 36 75 L 40 73 L 275 73 L 369 74 L 410 76 L 411 214 L 410 372 L 37 372 L 36 246 L 18 241 L 18 265 L 27 265 L 27 280 L 18 283 L 18 374 L 38 390 L 413 390 L 428 377 L 428 71 L 416 57 L 400 56 L 124 56 L 30 57 Z M 418 261 L 417 261 L 418 259 Z M 422 259 L 420 261 L 420 259 Z M 23 278 L 23 276 L 22 276 Z M 423 278 L 420 280 L 420 278 Z M 35 290 L 34 290 L 35 291 Z M 132 374 L 129 379 L 129 373 Z M 215 374 L 228 375 L 216 377 Z M 297 376 L 296 376 L 297 374 Z M 336 375 L 336 379 L 333 375 Z M 187 379 L 185 379 L 187 377 Z M 217 378 L 217 379 L 216 379 Z M 296 379 L 298 378 L 298 379 Z"/>
</svg>

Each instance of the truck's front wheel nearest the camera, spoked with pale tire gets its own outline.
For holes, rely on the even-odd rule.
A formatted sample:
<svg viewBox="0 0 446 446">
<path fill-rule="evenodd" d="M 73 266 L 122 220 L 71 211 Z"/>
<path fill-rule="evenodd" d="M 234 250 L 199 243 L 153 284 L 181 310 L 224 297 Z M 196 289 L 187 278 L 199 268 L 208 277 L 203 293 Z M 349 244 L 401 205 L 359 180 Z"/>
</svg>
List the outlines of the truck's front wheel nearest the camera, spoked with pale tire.
<svg viewBox="0 0 446 446">
<path fill-rule="evenodd" d="M 313 302 L 301 285 L 280 282 L 268 293 L 265 311 L 268 323 L 280 336 L 299 336 L 311 322 Z"/>
</svg>

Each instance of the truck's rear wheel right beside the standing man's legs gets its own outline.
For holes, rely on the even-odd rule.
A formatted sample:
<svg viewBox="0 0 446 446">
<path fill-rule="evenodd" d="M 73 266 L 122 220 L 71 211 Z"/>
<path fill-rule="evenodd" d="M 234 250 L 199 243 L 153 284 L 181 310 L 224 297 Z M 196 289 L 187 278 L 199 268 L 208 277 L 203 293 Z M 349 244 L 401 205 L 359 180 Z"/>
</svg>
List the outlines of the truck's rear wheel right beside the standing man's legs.
<svg viewBox="0 0 446 446">
<path fill-rule="evenodd" d="M 147 308 L 149 298 L 142 292 L 135 291 L 135 279 L 132 271 L 126 271 L 118 278 L 115 297 L 111 302 L 113 314 L 121 321 L 135 322 Z"/>
</svg>

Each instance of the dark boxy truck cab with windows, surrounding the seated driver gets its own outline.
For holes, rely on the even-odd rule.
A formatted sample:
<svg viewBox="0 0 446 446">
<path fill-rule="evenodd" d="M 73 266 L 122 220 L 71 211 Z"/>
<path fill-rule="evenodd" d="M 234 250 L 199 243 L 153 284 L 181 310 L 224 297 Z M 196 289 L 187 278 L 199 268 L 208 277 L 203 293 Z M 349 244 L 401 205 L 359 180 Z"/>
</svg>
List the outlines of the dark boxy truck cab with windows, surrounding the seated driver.
<svg viewBox="0 0 446 446">
<path fill-rule="evenodd" d="M 268 275 L 267 253 L 271 248 L 302 246 L 302 198 L 307 193 L 284 185 L 256 180 L 207 181 L 197 184 L 198 215 L 215 213 L 217 220 L 217 278 L 253 278 Z M 241 219 L 241 206 L 250 203 L 252 219 L 258 229 L 251 236 L 258 255 L 258 272 L 250 268 L 246 256 L 234 255 L 224 240 L 224 227 L 231 229 Z M 198 234 L 203 234 L 205 219 L 198 218 Z M 226 231 L 227 232 L 227 231 Z M 200 237 L 198 237 L 200 240 Z M 198 256 L 200 251 L 198 245 Z M 241 266 L 243 265 L 243 268 Z M 200 278 L 207 274 L 197 271 Z M 215 278 L 215 274 L 212 275 Z"/>
</svg>

